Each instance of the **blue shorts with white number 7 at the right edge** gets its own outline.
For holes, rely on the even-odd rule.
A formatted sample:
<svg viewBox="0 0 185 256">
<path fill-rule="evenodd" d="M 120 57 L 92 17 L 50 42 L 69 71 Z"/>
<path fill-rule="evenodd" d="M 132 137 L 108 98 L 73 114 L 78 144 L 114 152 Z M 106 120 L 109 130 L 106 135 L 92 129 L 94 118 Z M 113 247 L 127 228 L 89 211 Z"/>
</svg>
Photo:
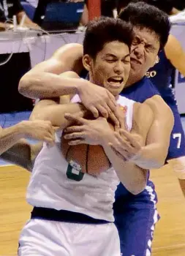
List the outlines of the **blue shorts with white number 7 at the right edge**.
<svg viewBox="0 0 185 256">
<path fill-rule="evenodd" d="M 181 116 L 178 113 L 178 107 L 175 104 L 167 105 L 173 111 L 174 126 L 170 138 L 170 148 L 167 154 L 167 160 L 185 156 L 185 136 L 184 129 L 181 124 Z"/>
</svg>

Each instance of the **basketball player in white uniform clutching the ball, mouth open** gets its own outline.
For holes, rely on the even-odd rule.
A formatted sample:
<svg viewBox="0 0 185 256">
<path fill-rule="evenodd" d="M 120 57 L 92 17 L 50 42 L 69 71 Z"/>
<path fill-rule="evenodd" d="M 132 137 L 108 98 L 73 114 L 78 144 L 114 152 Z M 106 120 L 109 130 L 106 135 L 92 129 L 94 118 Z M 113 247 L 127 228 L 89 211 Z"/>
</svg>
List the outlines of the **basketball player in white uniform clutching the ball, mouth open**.
<svg viewBox="0 0 185 256">
<path fill-rule="evenodd" d="M 113 224 L 114 192 L 119 181 L 133 194 L 146 187 L 148 170 L 143 167 L 144 152 L 155 136 L 150 130 L 154 114 L 147 102 L 139 104 L 118 95 L 129 76 L 131 44 L 132 26 L 111 18 L 89 23 L 83 42 L 83 65 L 89 71 L 91 82 L 113 94 L 123 123 L 125 113 L 119 105 L 127 109 L 124 137 L 129 160 L 117 157 L 112 151 L 110 144 L 117 140 L 117 133 L 110 129 L 106 118 L 86 120 L 65 115 L 67 121 L 78 120 L 82 124 L 80 130 L 74 126 L 66 129 L 67 139 L 78 138 L 69 143 L 101 145 L 111 167 L 91 176 L 69 165 L 57 145 L 61 133 L 56 135 L 56 146 L 44 145 L 29 182 L 27 200 L 34 210 L 20 235 L 18 255 L 121 255 L 118 232 Z M 72 97 L 72 102 L 79 101 L 78 95 Z M 58 105 L 56 102 L 40 101 L 33 116 L 50 119 L 53 125 L 64 129 L 67 126 L 64 113 L 77 104 Z M 83 111 L 76 113 L 81 115 Z M 170 116 L 165 154 L 172 127 L 173 116 Z M 83 132 L 83 136 L 79 132 Z M 151 155 L 147 157 L 148 161 L 152 160 Z"/>
</svg>

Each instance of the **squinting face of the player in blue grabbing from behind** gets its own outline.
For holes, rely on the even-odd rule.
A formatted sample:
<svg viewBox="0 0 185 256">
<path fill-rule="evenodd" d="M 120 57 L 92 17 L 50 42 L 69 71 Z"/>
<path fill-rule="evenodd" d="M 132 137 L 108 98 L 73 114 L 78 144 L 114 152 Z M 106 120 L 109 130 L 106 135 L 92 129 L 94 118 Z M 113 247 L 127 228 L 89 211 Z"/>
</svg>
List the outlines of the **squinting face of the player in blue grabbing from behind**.
<svg viewBox="0 0 185 256">
<path fill-rule="evenodd" d="M 159 37 L 148 29 L 134 28 L 135 39 L 130 53 L 131 69 L 128 85 L 137 82 L 154 66 L 159 52 Z"/>
</svg>

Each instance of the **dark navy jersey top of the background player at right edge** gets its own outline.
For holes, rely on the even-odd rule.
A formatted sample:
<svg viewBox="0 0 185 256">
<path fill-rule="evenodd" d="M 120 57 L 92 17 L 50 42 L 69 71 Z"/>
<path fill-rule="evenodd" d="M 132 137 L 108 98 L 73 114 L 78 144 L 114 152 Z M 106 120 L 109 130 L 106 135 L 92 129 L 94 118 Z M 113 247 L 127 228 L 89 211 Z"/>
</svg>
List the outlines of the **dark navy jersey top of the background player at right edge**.
<svg viewBox="0 0 185 256">
<path fill-rule="evenodd" d="M 169 104 L 176 104 L 173 93 L 174 76 L 175 67 L 167 59 L 165 50 L 160 51 L 159 62 L 146 72 L 146 77 L 151 80 L 162 98 Z"/>
</svg>

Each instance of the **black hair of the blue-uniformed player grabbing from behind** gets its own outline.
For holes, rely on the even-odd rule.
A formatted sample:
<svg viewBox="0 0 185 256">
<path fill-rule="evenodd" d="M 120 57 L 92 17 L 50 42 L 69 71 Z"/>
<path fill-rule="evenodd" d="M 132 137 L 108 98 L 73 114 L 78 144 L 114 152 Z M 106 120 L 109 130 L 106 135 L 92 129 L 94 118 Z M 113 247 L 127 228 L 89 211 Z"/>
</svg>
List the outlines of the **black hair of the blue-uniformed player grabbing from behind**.
<svg viewBox="0 0 185 256">
<path fill-rule="evenodd" d="M 164 48 L 170 34 L 168 15 L 158 8 L 143 1 L 130 3 L 119 14 L 121 20 L 132 23 L 140 29 L 148 29 L 159 37 L 160 48 Z"/>
</svg>

